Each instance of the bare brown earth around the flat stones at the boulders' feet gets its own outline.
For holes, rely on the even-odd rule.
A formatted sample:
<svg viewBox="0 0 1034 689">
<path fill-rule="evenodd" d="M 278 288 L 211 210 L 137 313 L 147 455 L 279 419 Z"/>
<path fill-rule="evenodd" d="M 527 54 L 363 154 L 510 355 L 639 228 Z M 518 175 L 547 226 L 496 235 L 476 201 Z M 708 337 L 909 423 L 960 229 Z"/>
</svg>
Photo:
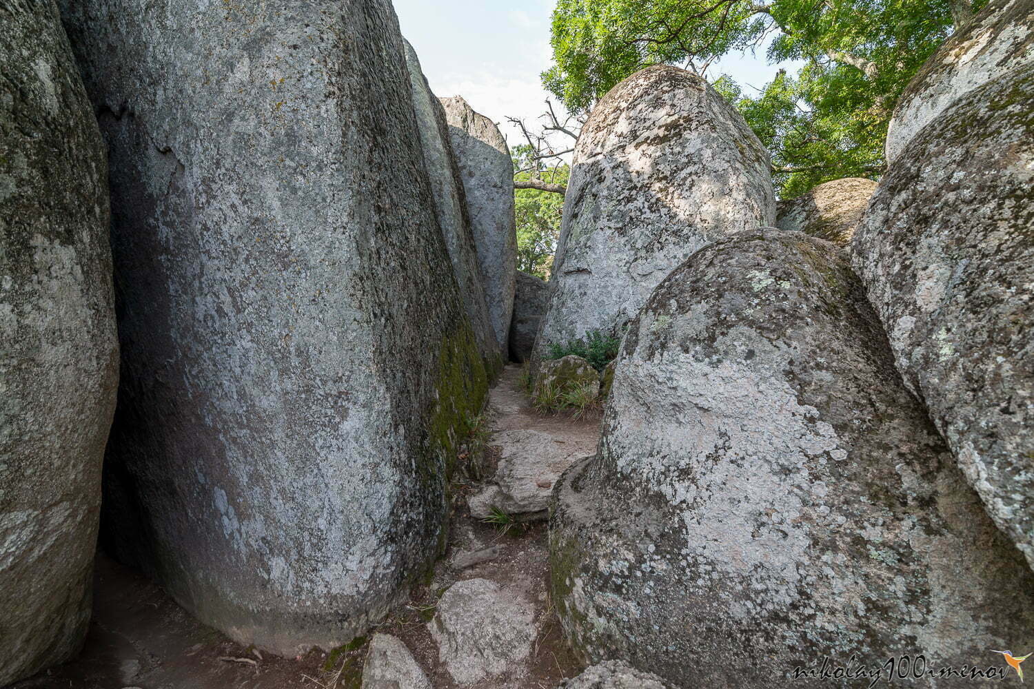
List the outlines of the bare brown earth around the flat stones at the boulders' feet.
<svg viewBox="0 0 1034 689">
<path fill-rule="evenodd" d="M 556 442 L 571 443 L 578 456 L 592 453 L 599 419 L 539 415 L 520 389 L 519 377 L 519 369 L 510 366 L 492 389 L 491 429 L 542 431 Z M 490 464 L 493 453 L 489 447 Z M 455 488 L 446 557 L 437 563 L 429 584 L 418 587 L 409 603 L 375 631 L 405 641 L 435 689 L 458 689 L 438 662 L 426 623 L 453 583 L 491 580 L 535 603 L 538 635 L 525 666 L 465 689 L 552 689 L 561 679 L 576 675 L 580 665 L 564 643 L 549 601 L 546 525 L 518 524 L 500 533 L 466 511 L 465 496 L 476 486 L 459 480 Z M 464 569 L 451 564 L 459 552 L 489 546 L 498 547 L 489 561 Z M 358 689 L 366 646 L 362 640 L 354 646 L 293 659 L 255 653 L 193 620 L 143 575 L 98 554 L 94 614 L 82 654 L 11 689 Z"/>
</svg>

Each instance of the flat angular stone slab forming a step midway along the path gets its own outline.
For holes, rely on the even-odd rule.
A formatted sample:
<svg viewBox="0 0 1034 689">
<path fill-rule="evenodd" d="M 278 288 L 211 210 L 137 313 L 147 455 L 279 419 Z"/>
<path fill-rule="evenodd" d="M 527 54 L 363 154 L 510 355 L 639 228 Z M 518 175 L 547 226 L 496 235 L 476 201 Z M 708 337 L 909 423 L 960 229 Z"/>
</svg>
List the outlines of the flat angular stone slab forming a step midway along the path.
<svg viewBox="0 0 1034 689">
<path fill-rule="evenodd" d="M 489 440 L 500 448 L 492 486 L 470 499 L 470 515 L 484 519 L 497 509 L 507 514 L 542 512 L 549 507 L 553 483 L 581 457 L 574 443 L 557 442 L 542 431 L 504 431 Z"/>
</svg>

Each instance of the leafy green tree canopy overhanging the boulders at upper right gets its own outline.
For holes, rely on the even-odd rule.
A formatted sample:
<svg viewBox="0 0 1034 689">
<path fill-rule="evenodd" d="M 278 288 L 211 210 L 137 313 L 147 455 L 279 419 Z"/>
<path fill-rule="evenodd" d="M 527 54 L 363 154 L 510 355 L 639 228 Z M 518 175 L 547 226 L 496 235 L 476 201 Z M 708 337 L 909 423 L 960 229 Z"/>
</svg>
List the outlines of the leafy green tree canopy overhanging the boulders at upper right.
<svg viewBox="0 0 1034 689">
<path fill-rule="evenodd" d="M 784 198 L 844 177 L 875 179 L 898 96 L 984 0 L 558 0 L 546 88 L 584 112 L 652 64 L 706 65 L 769 36 L 768 60 L 801 60 L 760 92 L 716 88 L 768 148 Z"/>
</svg>

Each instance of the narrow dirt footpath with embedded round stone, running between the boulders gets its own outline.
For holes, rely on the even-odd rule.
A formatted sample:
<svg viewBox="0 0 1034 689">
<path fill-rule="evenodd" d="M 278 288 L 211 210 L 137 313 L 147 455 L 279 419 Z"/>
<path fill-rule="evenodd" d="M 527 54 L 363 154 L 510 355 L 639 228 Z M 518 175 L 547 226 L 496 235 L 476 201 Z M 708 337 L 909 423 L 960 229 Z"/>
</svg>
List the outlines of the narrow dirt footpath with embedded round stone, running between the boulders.
<svg viewBox="0 0 1034 689">
<path fill-rule="evenodd" d="M 446 557 L 430 584 L 418 589 L 409 606 L 378 631 L 405 643 L 435 689 L 553 689 L 577 675 L 580 664 L 564 641 L 549 600 L 546 522 L 493 525 L 473 516 L 467 500 L 491 483 L 505 451 L 497 441 L 513 432 L 534 431 L 562 445 L 564 453 L 584 457 L 596 451 L 599 417 L 539 414 L 521 388 L 521 370 L 515 365 L 504 370 L 492 388 L 486 414 L 491 431 L 486 478 L 457 481 Z M 511 461 L 539 459 L 517 456 Z M 503 665 L 505 670 L 491 674 Z M 472 683 L 479 672 L 481 678 Z"/>
</svg>

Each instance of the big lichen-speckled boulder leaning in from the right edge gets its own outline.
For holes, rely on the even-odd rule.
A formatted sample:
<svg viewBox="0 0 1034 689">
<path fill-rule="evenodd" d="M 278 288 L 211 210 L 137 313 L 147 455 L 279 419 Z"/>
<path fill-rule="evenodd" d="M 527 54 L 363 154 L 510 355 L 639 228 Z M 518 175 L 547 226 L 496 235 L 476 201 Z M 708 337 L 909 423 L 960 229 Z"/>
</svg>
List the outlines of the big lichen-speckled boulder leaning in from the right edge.
<svg viewBox="0 0 1034 689">
<path fill-rule="evenodd" d="M 1034 63 L 959 99 L 890 166 L 854 264 L 905 384 L 1034 566 Z"/>
</svg>

